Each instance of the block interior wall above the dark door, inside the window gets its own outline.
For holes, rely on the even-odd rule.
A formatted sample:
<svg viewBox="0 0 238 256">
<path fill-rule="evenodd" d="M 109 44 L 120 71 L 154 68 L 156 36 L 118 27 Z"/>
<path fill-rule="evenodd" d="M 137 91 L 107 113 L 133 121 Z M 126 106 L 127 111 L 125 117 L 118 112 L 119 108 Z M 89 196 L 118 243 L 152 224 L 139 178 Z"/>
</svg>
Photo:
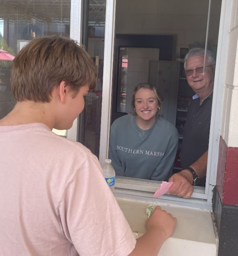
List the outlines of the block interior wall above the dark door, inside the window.
<svg viewBox="0 0 238 256">
<path fill-rule="evenodd" d="M 212 1 L 208 46 L 217 45 L 222 0 Z M 116 34 L 174 35 L 173 60 L 180 47 L 205 44 L 208 0 L 117 0 Z"/>
</svg>

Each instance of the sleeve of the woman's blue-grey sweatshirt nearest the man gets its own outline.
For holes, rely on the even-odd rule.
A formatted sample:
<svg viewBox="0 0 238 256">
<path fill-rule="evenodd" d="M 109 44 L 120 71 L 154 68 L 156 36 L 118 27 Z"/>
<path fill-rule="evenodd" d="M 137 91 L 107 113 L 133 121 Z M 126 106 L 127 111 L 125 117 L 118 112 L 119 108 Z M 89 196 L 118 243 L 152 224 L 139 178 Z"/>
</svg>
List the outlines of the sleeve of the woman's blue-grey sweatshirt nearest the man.
<svg viewBox="0 0 238 256">
<path fill-rule="evenodd" d="M 179 134 L 177 129 L 173 129 L 171 138 L 169 140 L 169 145 L 166 152 L 164 153 L 163 159 L 156 166 L 156 169 L 151 175 L 151 180 L 159 181 L 161 180 L 161 173 L 164 173 L 164 181 L 168 181 L 169 177 L 172 175 L 174 160 L 177 153 L 177 147 L 179 142 Z"/>
</svg>

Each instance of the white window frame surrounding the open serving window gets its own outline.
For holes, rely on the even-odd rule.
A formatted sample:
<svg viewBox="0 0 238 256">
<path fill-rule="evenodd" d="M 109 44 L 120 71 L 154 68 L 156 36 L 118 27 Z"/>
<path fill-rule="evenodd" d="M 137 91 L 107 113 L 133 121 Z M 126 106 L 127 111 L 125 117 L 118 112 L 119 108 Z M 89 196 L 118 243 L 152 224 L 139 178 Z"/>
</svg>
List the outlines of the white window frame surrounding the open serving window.
<svg viewBox="0 0 238 256">
<path fill-rule="evenodd" d="M 82 38 L 82 2 L 81 0 L 71 1 L 70 16 L 70 37 L 80 41 Z M 214 80 L 212 115 L 210 125 L 210 140 L 207 163 L 206 188 L 194 187 L 194 192 L 190 199 L 183 199 L 171 195 L 164 195 L 160 199 L 154 199 L 153 194 L 161 183 L 159 181 L 146 181 L 133 178 L 118 177 L 115 195 L 117 197 L 151 200 L 154 203 L 162 202 L 166 204 L 184 205 L 186 207 L 212 209 L 212 190 L 216 184 L 218 168 L 218 151 L 220 141 L 221 113 L 223 102 L 223 90 L 225 85 L 225 70 L 228 52 L 228 38 L 230 17 L 233 0 L 222 0 L 220 13 L 220 26 L 218 35 L 218 50 Z M 107 0 L 106 21 L 105 21 L 105 50 L 103 68 L 103 91 L 102 91 L 102 115 L 100 132 L 100 155 L 102 164 L 108 157 L 108 145 L 110 134 L 112 82 L 113 82 L 113 52 L 115 34 L 115 11 L 116 0 Z M 81 14 L 81 16 L 80 16 Z M 78 120 L 68 130 L 67 137 L 77 141 Z"/>
</svg>

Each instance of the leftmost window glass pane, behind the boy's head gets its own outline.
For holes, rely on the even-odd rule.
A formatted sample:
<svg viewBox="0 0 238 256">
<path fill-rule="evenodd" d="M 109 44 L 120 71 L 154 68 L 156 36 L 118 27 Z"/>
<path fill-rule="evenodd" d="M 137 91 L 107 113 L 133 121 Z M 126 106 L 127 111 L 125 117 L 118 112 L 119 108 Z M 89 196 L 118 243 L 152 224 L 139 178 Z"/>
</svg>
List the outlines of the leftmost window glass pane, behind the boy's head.
<svg viewBox="0 0 238 256">
<path fill-rule="evenodd" d="M 70 0 L 5 0 L 0 7 L 0 49 L 15 56 L 24 45 L 37 37 L 69 37 Z M 2 55 L 0 55 L 2 56 Z M 14 107 L 10 90 L 12 61 L 0 57 L 0 119 Z M 66 136 L 67 131 L 54 130 Z"/>
</svg>

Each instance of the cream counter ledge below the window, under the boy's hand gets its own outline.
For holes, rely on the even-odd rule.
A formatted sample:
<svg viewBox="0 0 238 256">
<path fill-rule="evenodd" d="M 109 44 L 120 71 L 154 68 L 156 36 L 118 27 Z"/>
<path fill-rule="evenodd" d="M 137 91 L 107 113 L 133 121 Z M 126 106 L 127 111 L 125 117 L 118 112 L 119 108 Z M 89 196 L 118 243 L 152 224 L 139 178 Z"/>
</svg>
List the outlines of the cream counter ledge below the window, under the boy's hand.
<svg viewBox="0 0 238 256">
<path fill-rule="evenodd" d="M 146 208 L 150 201 L 117 197 L 118 204 L 133 232 L 139 236 L 145 232 Z M 177 225 L 171 238 L 163 244 L 159 256 L 216 256 L 218 236 L 213 226 L 212 212 L 159 203 L 162 209 L 177 217 Z"/>
</svg>

